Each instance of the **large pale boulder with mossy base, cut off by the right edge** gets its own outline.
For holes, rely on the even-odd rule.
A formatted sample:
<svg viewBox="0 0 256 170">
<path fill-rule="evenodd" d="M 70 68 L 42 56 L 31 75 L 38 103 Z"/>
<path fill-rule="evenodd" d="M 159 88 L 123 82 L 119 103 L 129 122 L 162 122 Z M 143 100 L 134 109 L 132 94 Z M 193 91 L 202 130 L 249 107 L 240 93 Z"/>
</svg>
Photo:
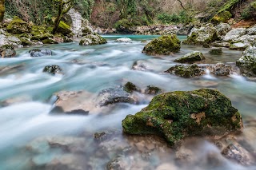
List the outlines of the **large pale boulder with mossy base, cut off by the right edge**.
<svg viewBox="0 0 256 170">
<path fill-rule="evenodd" d="M 242 75 L 256 77 L 256 46 L 248 47 L 236 61 Z"/>
</svg>

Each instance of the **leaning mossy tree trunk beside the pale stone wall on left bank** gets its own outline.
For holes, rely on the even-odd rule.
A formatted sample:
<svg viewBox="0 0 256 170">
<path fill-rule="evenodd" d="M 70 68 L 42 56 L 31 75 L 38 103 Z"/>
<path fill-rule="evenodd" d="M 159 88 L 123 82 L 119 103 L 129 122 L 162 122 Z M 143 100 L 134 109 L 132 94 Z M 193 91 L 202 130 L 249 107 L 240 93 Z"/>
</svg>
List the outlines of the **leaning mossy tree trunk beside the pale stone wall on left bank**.
<svg viewBox="0 0 256 170">
<path fill-rule="evenodd" d="M 1 0 L 0 0 L 1 1 Z M 66 14 L 70 8 L 73 6 L 73 0 L 55 0 L 58 2 L 58 15 L 57 18 L 54 21 L 54 29 L 53 29 L 53 34 L 56 33 L 58 29 L 59 22 L 61 22 L 61 18 L 63 14 Z"/>
</svg>

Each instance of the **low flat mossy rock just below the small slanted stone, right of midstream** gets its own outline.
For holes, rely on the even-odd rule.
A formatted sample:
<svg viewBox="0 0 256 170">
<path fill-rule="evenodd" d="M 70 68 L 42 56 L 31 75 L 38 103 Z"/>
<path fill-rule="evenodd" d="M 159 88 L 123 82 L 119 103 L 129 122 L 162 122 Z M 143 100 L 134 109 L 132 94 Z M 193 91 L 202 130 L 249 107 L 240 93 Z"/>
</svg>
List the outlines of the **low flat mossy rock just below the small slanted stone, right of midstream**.
<svg viewBox="0 0 256 170">
<path fill-rule="evenodd" d="M 174 65 L 165 71 L 180 77 L 190 78 L 202 76 L 205 72 L 198 65 Z"/>
</svg>

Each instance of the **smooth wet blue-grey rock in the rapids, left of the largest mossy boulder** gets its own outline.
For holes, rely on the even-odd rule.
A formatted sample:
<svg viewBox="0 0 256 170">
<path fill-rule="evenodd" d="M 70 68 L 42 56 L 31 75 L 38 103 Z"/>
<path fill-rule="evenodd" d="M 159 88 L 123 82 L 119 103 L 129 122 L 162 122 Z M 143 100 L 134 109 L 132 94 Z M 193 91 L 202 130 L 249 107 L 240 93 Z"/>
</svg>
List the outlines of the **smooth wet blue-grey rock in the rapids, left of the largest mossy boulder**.
<svg viewBox="0 0 256 170">
<path fill-rule="evenodd" d="M 104 89 L 98 94 L 98 105 L 100 107 L 112 105 L 114 103 L 130 103 L 134 104 L 136 101 L 122 88 Z"/>
</svg>

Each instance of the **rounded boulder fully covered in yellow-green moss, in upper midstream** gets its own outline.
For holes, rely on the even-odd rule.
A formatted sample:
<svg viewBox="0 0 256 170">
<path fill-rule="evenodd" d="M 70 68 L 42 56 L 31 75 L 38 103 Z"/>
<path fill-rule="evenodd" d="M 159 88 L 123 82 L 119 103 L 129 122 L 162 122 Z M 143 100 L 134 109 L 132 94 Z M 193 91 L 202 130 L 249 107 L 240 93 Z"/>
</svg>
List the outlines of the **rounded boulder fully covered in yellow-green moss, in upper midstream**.
<svg viewBox="0 0 256 170">
<path fill-rule="evenodd" d="M 148 55 L 170 55 L 171 53 L 178 53 L 180 49 L 181 42 L 176 35 L 163 35 L 148 43 L 142 53 Z"/>
</svg>

